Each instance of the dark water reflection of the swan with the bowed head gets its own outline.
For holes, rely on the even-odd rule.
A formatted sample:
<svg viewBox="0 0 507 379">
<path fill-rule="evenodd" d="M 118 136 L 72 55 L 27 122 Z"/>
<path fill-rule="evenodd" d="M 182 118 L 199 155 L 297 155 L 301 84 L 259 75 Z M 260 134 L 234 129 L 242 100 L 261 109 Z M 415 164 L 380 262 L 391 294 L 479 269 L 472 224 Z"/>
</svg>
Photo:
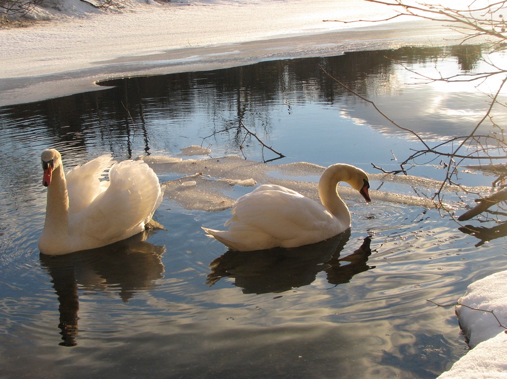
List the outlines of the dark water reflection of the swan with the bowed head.
<svg viewBox="0 0 507 379">
<path fill-rule="evenodd" d="M 370 237 L 352 254 L 340 258 L 349 238 L 347 230 L 331 239 L 297 248 L 229 250 L 210 263 L 206 283 L 212 286 L 221 278 L 230 277 L 243 293 L 279 293 L 311 284 L 321 271 L 333 285 L 348 283 L 354 275 L 374 268 L 367 264 L 372 252 Z"/>
</svg>

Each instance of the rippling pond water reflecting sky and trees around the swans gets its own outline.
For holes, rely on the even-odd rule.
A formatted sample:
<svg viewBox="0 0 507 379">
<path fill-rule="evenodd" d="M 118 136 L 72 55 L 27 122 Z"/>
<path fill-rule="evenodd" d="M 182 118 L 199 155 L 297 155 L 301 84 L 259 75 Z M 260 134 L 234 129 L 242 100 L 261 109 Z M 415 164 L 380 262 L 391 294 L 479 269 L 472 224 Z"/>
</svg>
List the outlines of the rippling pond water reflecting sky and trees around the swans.
<svg viewBox="0 0 507 379">
<path fill-rule="evenodd" d="M 377 189 L 431 197 L 437 187 L 375 175 L 372 163 L 396 168 L 418 142 L 324 69 L 438 143 L 472 129 L 485 97 L 462 83 L 419 83 L 403 65 L 480 69 L 471 56 L 477 47 L 278 60 L 112 80 L 96 92 L 0 108 L 9 163 L 0 176 L 0 376 L 433 378 L 449 369 L 468 348 L 453 308 L 427 300 L 453 303 L 471 282 L 505 270 L 504 238 L 479 245 L 449 214 L 381 196 Z M 209 152 L 189 156 L 192 145 Z M 46 147 L 61 151 L 66 168 L 105 153 L 195 164 L 183 173 L 153 163 L 161 182 L 232 160 L 256 163 L 264 179 L 315 183 L 318 175 L 286 165 L 344 162 L 371 173 L 377 195 L 370 204 L 346 196 L 350 232 L 299 249 L 227 251 L 201 226 L 220 229 L 229 210 L 166 196 L 155 217 L 163 230 L 43 256 Z M 440 160 L 417 163 L 410 174 L 443 178 Z M 494 177 L 466 171 L 460 180 L 488 186 Z M 227 188 L 230 199 L 252 190 Z"/>
</svg>

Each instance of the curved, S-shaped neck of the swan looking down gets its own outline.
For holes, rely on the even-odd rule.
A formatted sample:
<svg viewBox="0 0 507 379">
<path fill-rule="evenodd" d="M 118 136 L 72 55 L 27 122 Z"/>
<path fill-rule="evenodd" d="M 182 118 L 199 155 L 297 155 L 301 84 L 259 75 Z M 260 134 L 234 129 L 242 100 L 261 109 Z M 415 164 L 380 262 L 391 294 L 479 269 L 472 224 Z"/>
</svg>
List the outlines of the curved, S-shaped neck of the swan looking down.
<svg viewBox="0 0 507 379">
<path fill-rule="evenodd" d="M 349 179 L 350 173 L 346 167 L 339 165 L 329 167 L 322 173 L 318 182 L 318 195 L 324 207 L 350 225 L 350 212 L 336 189 L 339 182 Z"/>
</svg>

